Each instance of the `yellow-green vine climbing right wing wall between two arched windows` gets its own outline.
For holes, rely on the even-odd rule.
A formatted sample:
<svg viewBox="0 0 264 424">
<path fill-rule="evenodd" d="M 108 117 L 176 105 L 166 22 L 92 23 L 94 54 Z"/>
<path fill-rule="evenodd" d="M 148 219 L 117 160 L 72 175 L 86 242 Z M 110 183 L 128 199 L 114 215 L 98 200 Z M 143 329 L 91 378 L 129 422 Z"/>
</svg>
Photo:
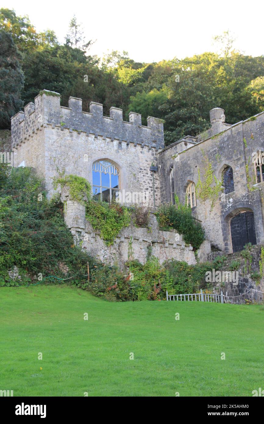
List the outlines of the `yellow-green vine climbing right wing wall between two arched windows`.
<svg viewBox="0 0 264 424">
<path fill-rule="evenodd" d="M 215 201 L 217 200 L 218 193 L 222 191 L 222 181 L 217 180 L 214 176 L 212 164 L 209 162 L 207 156 L 203 155 L 203 163 L 205 172 L 203 174 L 203 181 L 200 177 L 200 169 L 198 169 L 198 182 L 196 184 L 196 195 L 202 201 L 207 199 L 211 200 L 211 210 L 214 207 Z M 214 186 L 212 186 L 212 184 Z"/>
</svg>

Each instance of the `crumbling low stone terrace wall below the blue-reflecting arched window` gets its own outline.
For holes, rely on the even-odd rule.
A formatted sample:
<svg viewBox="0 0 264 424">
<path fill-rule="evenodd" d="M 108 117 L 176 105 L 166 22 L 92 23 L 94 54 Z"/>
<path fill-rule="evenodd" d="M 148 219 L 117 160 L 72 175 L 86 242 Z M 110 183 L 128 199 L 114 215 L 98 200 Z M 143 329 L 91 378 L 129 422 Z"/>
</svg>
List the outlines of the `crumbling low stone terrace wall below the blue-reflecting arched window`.
<svg viewBox="0 0 264 424">
<path fill-rule="evenodd" d="M 85 206 L 73 201 L 65 190 L 62 193 L 62 201 L 64 201 L 64 219 L 74 236 L 75 243 L 82 241 L 82 248 L 103 262 L 111 264 L 116 262 L 123 267 L 130 257 L 145 263 L 151 246 L 151 254 L 158 257 L 160 263 L 167 259 L 186 261 L 190 265 L 196 263 L 192 246 L 185 244 L 183 237 L 175 230 L 159 231 L 153 214 L 150 214 L 150 230 L 131 225 L 119 232 L 113 245 L 107 246 L 86 220 Z M 210 251 L 211 245 L 205 241 L 197 251 L 197 257 L 201 262 L 205 261 Z"/>
</svg>

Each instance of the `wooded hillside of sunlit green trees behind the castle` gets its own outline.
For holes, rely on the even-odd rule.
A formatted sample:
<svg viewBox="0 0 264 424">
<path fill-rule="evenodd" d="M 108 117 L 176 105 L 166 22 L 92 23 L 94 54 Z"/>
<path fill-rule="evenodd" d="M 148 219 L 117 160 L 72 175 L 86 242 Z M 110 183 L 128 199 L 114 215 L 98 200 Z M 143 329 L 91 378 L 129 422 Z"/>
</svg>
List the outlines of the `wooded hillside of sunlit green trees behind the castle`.
<svg viewBox="0 0 264 424">
<path fill-rule="evenodd" d="M 236 123 L 264 110 L 264 56 L 252 57 L 233 50 L 228 32 L 218 37 L 222 53 L 203 53 L 184 59 L 140 63 L 128 53 L 113 51 L 102 58 L 89 56 L 92 40 L 86 42 L 81 25 L 73 17 L 63 45 L 54 31 L 36 33 L 28 17 L 0 9 L 0 29 L 6 31 L 22 53 L 25 104 L 40 90 L 59 92 L 61 104 L 69 96 L 83 99 L 89 111 L 91 100 L 164 120 L 165 144 L 186 134 L 197 135 L 210 126 L 209 111 L 225 109 L 226 121 Z M 16 107 L 16 112 L 19 106 Z M 2 124 L 2 128 L 6 128 Z"/>
</svg>

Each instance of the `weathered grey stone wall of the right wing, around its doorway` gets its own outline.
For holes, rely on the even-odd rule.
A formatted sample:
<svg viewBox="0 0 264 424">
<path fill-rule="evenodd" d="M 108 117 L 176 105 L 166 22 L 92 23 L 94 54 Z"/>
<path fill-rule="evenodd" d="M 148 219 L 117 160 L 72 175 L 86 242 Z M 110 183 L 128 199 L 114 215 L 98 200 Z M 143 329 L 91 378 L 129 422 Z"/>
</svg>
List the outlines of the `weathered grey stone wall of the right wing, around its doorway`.
<svg viewBox="0 0 264 424">
<path fill-rule="evenodd" d="M 251 161 L 254 152 L 264 151 L 264 114 L 258 114 L 233 126 L 224 126 L 224 123 L 218 122 L 217 128 L 219 125 L 223 125 L 224 131 L 204 141 L 187 145 L 176 157 L 177 145 L 158 153 L 158 163 L 163 169 L 160 182 L 161 202 L 170 201 L 171 188 L 168 176 L 172 166 L 175 194 L 182 203 L 185 202 L 188 184 L 193 181 L 197 185 L 198 171 L 201 180 L 204 181 L 205 158 L 208 159 L 214 176 L 219 181 L 222 180 L 222 171 L 225 167 L 231 166 L 234 191 L 228 194 L 219 192 L 212 208 L 210 198 L 202 201 L 197 196 L 197 206 L 193 208 L 193 215 L 202 222 L 206 238 L 220 250 L 230 253 L 232 252 L 230 220 L 241 211 L 254 212 L 257 244 L 264 243 L 264 183 L 256 184 L 254 165 Z"/>
</svg>

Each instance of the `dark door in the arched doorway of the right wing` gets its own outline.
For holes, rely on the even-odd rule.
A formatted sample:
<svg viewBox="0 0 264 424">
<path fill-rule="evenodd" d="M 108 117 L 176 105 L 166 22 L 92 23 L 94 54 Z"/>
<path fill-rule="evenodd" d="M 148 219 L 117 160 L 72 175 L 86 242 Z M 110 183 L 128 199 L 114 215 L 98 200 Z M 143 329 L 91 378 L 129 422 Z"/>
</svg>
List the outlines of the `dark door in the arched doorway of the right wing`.
<svg viewBox="0 0 264 424">
<path fill-rule="evenodd" d="M 231 218 L 230 221 L 233 252 L 243 250 L 245 244 L 257 244 L 252 211 L 243 211 Z"/>
</svg>

